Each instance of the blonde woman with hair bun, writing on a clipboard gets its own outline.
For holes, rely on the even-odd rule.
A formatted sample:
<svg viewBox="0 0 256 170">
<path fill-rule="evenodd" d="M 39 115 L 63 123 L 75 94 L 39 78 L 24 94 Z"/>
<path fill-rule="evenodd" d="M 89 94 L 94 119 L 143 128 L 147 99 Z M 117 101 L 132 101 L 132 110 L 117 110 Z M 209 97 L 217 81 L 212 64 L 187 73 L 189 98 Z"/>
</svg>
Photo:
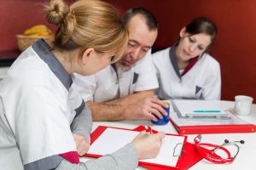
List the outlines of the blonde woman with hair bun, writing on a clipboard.
<svg viewBox="0 0 256 170">
<path fill-rule="evenodd" d="M 128 34 L 108 3 L 52 0 L 49 23 L 59 26 L 49 46 L 27 48 L 0 84 L 0 165 L 8 169 L 135 169 L 154 157 L 164 133 L 140 133 L 131 144 L 96 161 L 79 162 L 90 144 L 91 115 L 71 74 L 91 75 L 119 59 Z"/>
</svg>

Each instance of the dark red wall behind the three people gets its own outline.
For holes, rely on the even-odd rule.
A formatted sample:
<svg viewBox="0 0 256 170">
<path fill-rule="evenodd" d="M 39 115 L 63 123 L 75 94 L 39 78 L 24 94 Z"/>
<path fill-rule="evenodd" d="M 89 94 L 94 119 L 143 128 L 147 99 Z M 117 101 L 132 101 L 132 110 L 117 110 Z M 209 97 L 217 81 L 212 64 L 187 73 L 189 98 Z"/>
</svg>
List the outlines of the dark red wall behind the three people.
<svg viewBox="0 0 256 170">
<path fill-rule="evenodd" d="M 207 16 L 218 26 L 218 37 L 211 54 L 222 71 L 222 99 L 235 95 L 256 100 L 256 1 L 255 0 L 106 0 L 120 11 L 142 6 L 160 22 L 154 48 L 167 48 L 177 40 L 180 29 L 197 16 Z M 42 1 L 1 0 L 0 50 L 16 48 L 15 35 L 27 27 L 47 24 Z M 70 0 L 69 2 L 73 2 Z M 48 25 L 49 26 L 49 25 Z M 53 26 L 51 26 L 54 29 Z M 254 101 L 255 103 L 255 101 Z"/>
</svg>

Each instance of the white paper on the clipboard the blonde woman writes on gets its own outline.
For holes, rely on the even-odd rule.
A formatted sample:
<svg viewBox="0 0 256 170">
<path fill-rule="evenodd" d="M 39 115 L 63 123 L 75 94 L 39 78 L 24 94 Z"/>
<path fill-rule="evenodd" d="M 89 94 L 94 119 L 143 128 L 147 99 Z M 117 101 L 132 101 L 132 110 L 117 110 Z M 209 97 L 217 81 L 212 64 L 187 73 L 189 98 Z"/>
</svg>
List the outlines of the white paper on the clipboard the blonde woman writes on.
<svg viewBox="0 0 256 170">
<path fill-rule="evenodd" d="M 139 132 L 129 131 L 123 129 L 116 129 L 108 127 L 96 141 L 91 144 L 88 154 L 107 155 L 116 150 L 119 150 L 125 144 L 131 143 Z M 174 148 L 175 153 L 180 153 L 182 150 L 181 144 L 184 142 L 183 136 L 166 135 L 162 141 L 160 153 L 153 159 L 144 159 L 143 162 L 156 163 L 160 165 L 166 165 L 170 167 L 176 167 L 178 156 L 173 156 Z"/>
</svg>

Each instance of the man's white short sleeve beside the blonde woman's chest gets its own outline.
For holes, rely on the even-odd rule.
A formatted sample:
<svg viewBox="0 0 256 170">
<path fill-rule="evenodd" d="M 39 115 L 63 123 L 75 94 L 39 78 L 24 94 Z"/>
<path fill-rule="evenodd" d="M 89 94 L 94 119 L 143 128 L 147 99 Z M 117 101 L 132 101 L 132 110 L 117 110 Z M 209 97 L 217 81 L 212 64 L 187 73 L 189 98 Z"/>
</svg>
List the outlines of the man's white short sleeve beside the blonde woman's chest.
<svg viewBox="0 0 256 170">
<path fill-rule="evenodd" d="M 79 94 L 84 99 L 84 102 L 93 101 L 93 96 L 96 90 L 96 76 L 82 76 L 73 73 L 72 79 Z"/>
</svg>

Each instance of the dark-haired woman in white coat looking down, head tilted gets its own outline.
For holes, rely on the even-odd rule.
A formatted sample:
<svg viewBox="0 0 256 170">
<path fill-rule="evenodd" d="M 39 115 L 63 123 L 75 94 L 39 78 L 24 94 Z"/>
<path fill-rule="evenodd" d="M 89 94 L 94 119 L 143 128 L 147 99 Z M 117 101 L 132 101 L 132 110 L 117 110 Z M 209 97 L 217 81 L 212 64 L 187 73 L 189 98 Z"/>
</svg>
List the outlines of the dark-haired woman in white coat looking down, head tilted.
<svg viewBox="0 0 256 170">
<path fill-rule="evenodd" d="M 207 54 L 216 35 L 212 20 L 195 18 L 180 31 L 177 43 L 153 54 L 160 99 L 220 99 L 220 67 Z"/>
</svg>

